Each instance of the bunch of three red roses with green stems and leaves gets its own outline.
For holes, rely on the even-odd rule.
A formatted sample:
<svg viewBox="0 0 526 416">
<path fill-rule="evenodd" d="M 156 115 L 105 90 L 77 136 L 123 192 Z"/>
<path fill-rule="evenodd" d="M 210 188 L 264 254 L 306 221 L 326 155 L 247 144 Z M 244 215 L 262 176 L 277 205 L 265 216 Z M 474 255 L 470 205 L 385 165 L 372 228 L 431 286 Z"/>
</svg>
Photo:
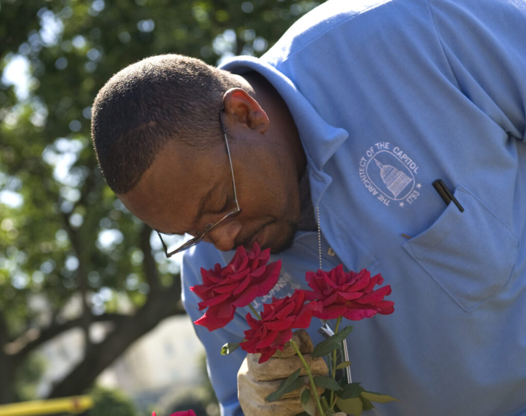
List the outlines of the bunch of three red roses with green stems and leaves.
<svg viewBox="0 0 526 416">
<path fill-rule="evenodd" d="M 281 269 L 280 261 L 267 264 L 269 258 L 270 250 L 261 250 L 255 243 L 248 252 L 238 247 L 225 267 L 216 264 L 213 269 L 201 268 L 203 284 L 190 289 L 202 299 L 199 309 L 208 309 L 195 324 L 213 331 L 234 319 L 236 308 L 249 306 L 254 316 L 246 316 L 249 328 L 245 331 L 245 339 L 225 345 L 221 353 L 241 347 L 249 353 L 259 353 L 258 362 L 263 363 L 277 351 L 283 351 L 286 345 L 295 349 L 305 368 L 308 384 L 299 377 L 298 369 L 267 397 L 269 402 L 301 387 L 301 404 L 307 413 L 314 415 L 317 412 L 325 416 L 343 411 L 358 416 L 363 410 L 372 409 L 372 402 L 396 400 L 387 394 L 363 389 L 360 383 L 350 380 L 350 371 L 347 371 L 347 377 L 337 379 L 336 376 L 338 369 L 350 366 L 345 339 L 352 327 L 340 328 L 342 318 L 360 320 L 376 314 L 391 314 L 394 310 L 393 302 L 384 299 L 391 293 L 391 287 L 377 287 L 383 283 L 382 276 L 377 274 L 371 277 L 366 269 L 359 273 L 345 272 L 341 264 L 329 272 L 308 272 L 306 280 L 310 290 L 296 289 L 291 296 L 273 297 L 272 302 L 264 304 L 263 310 L 258 312 L 251 302 L 269 293 L 276 285 Z M 328 338 L 311 353 L 311 357 L 328 357 L 330 372 L 327 376 L 312 376 L 310 366 L 292 340 L 293 330 L 308 328 L 312 317 L 336 319 L 334 330 L 326 326 L 324 329 Z M 322 397 L 317 393 L 317 387 L 326 389 Z"/>
</svg>

